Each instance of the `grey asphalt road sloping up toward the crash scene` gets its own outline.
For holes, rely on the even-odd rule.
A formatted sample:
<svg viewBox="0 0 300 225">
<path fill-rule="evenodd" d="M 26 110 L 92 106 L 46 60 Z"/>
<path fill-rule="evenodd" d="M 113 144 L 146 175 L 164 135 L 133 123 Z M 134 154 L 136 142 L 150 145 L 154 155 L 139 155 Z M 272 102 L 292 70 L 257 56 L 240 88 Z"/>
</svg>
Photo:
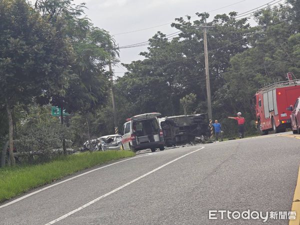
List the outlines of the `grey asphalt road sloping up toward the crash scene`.
<svg viewBox="0 0 300 225">
<path fill-rule="evenodd" d="M 4 202 L 0 224 L 288 224 L 208 210 L 290 211 L 299 143 L 266 135 L 138 154 Z"/>
</svg>

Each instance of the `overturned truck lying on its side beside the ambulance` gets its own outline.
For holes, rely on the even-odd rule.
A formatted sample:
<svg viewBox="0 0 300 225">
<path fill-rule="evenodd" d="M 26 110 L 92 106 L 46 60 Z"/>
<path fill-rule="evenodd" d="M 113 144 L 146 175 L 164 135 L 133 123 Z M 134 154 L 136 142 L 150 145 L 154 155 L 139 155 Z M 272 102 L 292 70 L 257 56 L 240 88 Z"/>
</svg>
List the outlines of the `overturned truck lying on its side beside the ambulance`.
<svg viewBox="0 0 300 225">
<path fill-rule="evenodd" d="M 209 136 L 207 113 L 167 116 L 158 120 L 167 147 L 192 142 L 195 137 Z"/>
</svg>

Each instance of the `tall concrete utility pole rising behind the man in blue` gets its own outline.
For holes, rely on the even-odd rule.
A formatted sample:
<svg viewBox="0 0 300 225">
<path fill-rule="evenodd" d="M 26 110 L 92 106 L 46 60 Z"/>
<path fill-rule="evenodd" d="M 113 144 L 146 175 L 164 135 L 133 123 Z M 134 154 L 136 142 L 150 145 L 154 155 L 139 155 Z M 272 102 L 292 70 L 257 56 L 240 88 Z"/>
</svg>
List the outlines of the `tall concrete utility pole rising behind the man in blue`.
<svg viewBox="0 0 300 225">
<path fill-rule="evenodd" d="M 210 82 L 209 82 L 209 70 L 208 70 L 208 52 L 207 52 L 207 37 L 206 37 L 206 18 L 204 20 L 203 32 L 204 32 L 204 55 L 205 55 L 205 75 L 206 75 L 206 92 L 207 92 L 207 111 L 209 120 L 212 119 L 211 110 L 211 96 L 210 96 Z"/>
</svg>

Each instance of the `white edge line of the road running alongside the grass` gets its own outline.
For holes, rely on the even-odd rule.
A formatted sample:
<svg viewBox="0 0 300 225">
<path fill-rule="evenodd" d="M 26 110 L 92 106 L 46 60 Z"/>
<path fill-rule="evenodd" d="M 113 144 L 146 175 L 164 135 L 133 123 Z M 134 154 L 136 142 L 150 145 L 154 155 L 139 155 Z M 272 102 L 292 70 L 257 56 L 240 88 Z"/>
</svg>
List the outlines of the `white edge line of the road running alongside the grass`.
<svg viewBox="0 0 300 225">
<path fill-rule="evenodd" d="M 68 179 L 64 179 L 64 180 L 62 180 L 62 181 L 60 181 L 60 182 L 51 184 L 51 185 L 49 185 L 49 186 L 43 187 L 43 188 L 38 189 L 38 190 L 36 190 L 36 191 L 33 191 L 33 192 L 29 193 L 29 194 L 26 194 L 26 195 L 24 195 L 24 196 L 21 196 L 21 197 L 19 197 L 19 198 L 16 198 L 16 199 L 14 199 L 14 200 L 12 200 L 12 201 L 7 202 L 6 204 L 2 204 L 2 205 L 0 205 L 0 208 L 3 208 L 3 207 L 5 207 L 5 206 L 8 206 L 8 205 L 13 204 L 13 203 L 15 203 L 15 202 L 18 202 L 18 201 L 20 201 L 20 200 L 22 200 L 22 199 L 24 199 L 24 198 L 26 198 L 26 197 L 29 197 L 29 196 L 31 196 L 31 195 L 33 195 L 33 194 L 36 194 L 36 193 L 40 192 L 40 191 L 46 190 L 46 189 L 48 189 L 48 188 L 50 188 L 50 187 L 56 186 L 56 185 L 58 185 L 58 184 L 64 183 L 64 182 L 69 181 L 69 180 L 72 180 L 72 179 L 75 179 L 75 178 L 77 178 L 77 177 L 79 177 L 79 176 L 86 175 L 86 174 L 88 174 L 88 173 L 90 173 L 90 172 L 93 172 L 93 171 L 96 171 L 96 170 L 98 170 L 98 169 L 102 169 L 102 168 L 105 168 L 105 167 L 108 167 L 108 166 L 111 166 L 111 165 L 115 165 L 115 164 L 120 163 L 120 162 L 123 162 L 123 161 L 127 161 L 127 160 L 130 160 L 130 159 L 138 158 L 138 157 L 142 157 L 142 156 L 145 156 L 145 155 L 139 155 L 139 156 L 136 156 L 136 157 L 127 158 L 127 159 L 124 159 L 124 160 L 121 160 L 121 161 L 113 162 L 113 163 L 111 163 L 111 164 L 104 165 L 104 166 L 101 166 L 101 167 L 99 167 L 99 168 L 95 168 L 95 169 L 89 170 L 89 171 L 87 171 L 87 172 L 83 172 L 83 173 L 81 173 L 81 174 L 79 174 L 79 175 L 72 176 L 72 177 L 70 177 L 70 178 L 68 178 Z"/>
</svg>

